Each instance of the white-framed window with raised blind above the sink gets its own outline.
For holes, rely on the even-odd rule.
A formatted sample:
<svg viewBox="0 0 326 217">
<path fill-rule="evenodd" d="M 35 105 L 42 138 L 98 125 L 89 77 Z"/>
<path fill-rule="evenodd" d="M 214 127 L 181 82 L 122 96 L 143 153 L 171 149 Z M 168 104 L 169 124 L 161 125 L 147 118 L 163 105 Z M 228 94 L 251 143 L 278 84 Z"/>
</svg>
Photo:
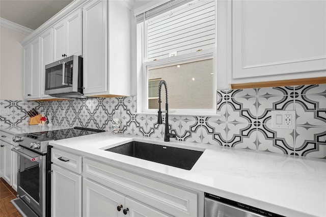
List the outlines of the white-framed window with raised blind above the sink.
<svg viewBox="0 0 326 217">
<path fill-rule="evenodd" d="M 158 83 L 165 80 L 170 113 L 215 114 L 215 1 L 173 0 L 137 20 L 141 111 L 157 110 Z"/>
</svg>

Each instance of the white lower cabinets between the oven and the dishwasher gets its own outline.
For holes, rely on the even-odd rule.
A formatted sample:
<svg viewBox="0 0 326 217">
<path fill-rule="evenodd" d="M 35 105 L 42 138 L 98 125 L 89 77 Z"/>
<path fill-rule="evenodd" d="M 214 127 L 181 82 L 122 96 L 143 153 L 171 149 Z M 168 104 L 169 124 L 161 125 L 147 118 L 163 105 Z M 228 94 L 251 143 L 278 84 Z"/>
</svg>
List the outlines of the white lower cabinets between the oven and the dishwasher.
<svg viewBox="0 0 326 217">
<path fill-rule="evenodd" d="M 56 148 L 51 161 L 51 216 L 198 216 L 196 191 Z"/>
</svg>

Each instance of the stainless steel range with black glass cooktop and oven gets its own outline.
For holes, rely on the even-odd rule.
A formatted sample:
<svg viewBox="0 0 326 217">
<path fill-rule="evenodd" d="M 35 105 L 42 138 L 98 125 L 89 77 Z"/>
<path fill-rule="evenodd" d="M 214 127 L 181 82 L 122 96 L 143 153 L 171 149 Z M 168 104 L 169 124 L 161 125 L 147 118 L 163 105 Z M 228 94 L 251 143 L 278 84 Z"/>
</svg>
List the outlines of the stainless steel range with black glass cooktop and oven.
<svg viewBox="0 0 326 217">
<path fill-rule="evenodd" d="M 99 129 L 68 129 L 16 134 L 14 152 L 18 154 L 17 198 L 11 203 L 22 216 L 51 215 L 51 148 L 50 141 L 80 137 Z"/>
</svg>

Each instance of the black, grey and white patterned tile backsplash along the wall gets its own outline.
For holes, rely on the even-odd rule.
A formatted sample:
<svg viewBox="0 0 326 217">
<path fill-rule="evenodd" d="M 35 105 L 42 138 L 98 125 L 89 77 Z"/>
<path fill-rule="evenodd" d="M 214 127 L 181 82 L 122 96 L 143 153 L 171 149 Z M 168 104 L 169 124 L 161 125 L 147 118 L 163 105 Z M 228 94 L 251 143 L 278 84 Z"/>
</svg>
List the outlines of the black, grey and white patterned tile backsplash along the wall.
<svg viewBox="0 0 326 217">
<path fill-rule="evenodd" d="M 121 119 L 121 133 L 164 137 L 156 115 L 136 114 L 135 96 L 62 101 L 0 100 L 0 125 L 26 125 L 26 111 L 51 114 L 53 125 L 112 131 Z M 326 159 L 326 84 L 217 91 L 221 117 L 170 116 L 180 141 L 221 145 Z M 271 127 L 271 111 L 295 111 L 295 129 Z"/>
</svg>

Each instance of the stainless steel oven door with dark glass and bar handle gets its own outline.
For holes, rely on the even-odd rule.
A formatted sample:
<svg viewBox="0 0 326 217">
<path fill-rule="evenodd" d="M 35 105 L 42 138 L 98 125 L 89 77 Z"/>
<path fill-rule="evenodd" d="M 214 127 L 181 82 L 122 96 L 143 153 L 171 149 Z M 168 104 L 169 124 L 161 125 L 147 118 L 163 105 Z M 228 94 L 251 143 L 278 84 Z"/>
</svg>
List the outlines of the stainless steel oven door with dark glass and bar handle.
<svg viewBox="0 0 326 217">
<path fill-rule="evenodd" d="M 18 154 L 18 197 L 39 216 L 45 216 L 46 155 L 23 147 L 14 147 L 12 151 Z M 25 212 L 23 209 L 20 208 Z"/>
</svg>

